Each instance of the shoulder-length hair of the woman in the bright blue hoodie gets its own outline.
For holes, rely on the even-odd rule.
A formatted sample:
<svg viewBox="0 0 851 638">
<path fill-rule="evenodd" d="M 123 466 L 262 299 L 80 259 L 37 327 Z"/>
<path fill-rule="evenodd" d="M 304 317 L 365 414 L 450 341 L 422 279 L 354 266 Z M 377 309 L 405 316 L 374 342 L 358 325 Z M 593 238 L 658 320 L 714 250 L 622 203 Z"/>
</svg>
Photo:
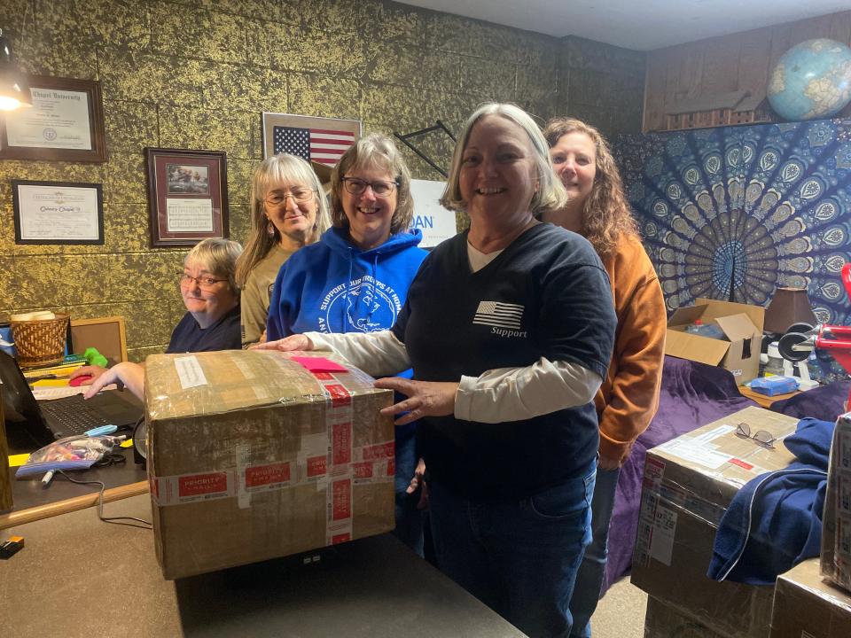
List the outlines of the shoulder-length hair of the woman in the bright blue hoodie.
<svg viewBox="0 0 851 638">
<path fill-rule="evenodd" d="M 340 190 L 343 177 L 350 170 L 358 168 L 378 168 L 384 170 L 398 182 L 396 186 L 396 210 L 390 219 L 390 234 L 395 235 L 407 230 L 414 218 L 414 198 L 410 194 L 410 170 L 405 164 L 402 153 L 393 140 L 380 133 L 371 133 L 361 137 L 348 147 L 331 174 L 331 222 L 340 229 L 348 228 L 348 218 L 343 211 Z"/>
</svg>

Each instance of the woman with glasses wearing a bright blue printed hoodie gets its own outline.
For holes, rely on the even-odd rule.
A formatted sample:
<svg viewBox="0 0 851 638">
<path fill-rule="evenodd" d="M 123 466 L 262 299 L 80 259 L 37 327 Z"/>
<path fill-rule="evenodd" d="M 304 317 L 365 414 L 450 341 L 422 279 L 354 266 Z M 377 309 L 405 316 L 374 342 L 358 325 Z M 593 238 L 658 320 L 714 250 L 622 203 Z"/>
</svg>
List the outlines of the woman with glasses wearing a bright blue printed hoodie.
<svg viewBox="0 0 851 638">
<path fill-rule="evenodd" d="M 343 153 L 331 177 L 332 228 L 281 267 L 269 303 L 269 341 L 306 331 L 393 327 L 426 251 L 410 171 L 393 140 L 373 134 Z M 409 371 L 410 372 L 410 371 Z M 396 427 L 396 535 L 422 554 L 418 495 L 407 494 L 418 456 L 414 424 Z"/>
</svg>

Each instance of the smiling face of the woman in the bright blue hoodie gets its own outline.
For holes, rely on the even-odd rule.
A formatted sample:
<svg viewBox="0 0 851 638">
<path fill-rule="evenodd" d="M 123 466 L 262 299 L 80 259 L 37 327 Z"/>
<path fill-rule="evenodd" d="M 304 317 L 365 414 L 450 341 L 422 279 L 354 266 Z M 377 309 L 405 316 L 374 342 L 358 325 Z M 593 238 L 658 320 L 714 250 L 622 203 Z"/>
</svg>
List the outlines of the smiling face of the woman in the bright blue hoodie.
<svg viewBox="0 0 851 638">
<path fill-rule="evenodd" d="M 395 175 L 379 167 L 352 167 L 344 177 L 370 183 L 395 180 Z M 348 234 L 352 243 L 361 250 L 384 244 L 390 237 L 390 222 L 393 221 L 397 199 L 396 188 L 386 197 L 378 197 L 371 188 L 360 195 L 353 195 L 346 190 L 345 184 L 340 183 L 340 203 L 348 220 Z"/>
</svg>

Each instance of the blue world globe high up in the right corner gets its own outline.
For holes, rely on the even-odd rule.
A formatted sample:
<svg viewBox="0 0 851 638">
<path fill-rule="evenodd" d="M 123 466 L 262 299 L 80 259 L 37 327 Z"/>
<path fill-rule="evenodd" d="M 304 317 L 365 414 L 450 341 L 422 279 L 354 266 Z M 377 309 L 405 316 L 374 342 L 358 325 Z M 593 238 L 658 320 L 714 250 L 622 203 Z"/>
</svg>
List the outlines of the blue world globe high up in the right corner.
<svg viewBox="0 0 851 638">
<path fill-rule="evenodd" d="M 851 102 L 851 49 L 824 38 L 796 44 L 769 76 L 769 103 L 785 120 L 817 120 Z"/>
</svg>

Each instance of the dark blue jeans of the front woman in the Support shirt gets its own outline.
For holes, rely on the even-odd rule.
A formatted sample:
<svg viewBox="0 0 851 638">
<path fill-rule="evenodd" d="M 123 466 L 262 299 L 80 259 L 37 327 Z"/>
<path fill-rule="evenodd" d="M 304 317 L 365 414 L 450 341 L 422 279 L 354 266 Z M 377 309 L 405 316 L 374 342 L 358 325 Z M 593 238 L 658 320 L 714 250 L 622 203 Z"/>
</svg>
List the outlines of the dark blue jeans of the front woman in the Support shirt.
<svg viewBox="0 0 851 638">
<path fill-rule="evenodd" d="M 434 553 L 444 572 L 529 636 L 566 638 L 567 603 L 591 540 L 597 463 L 529 498 L 470 500 L 432 479 Z"/>
</svg>

